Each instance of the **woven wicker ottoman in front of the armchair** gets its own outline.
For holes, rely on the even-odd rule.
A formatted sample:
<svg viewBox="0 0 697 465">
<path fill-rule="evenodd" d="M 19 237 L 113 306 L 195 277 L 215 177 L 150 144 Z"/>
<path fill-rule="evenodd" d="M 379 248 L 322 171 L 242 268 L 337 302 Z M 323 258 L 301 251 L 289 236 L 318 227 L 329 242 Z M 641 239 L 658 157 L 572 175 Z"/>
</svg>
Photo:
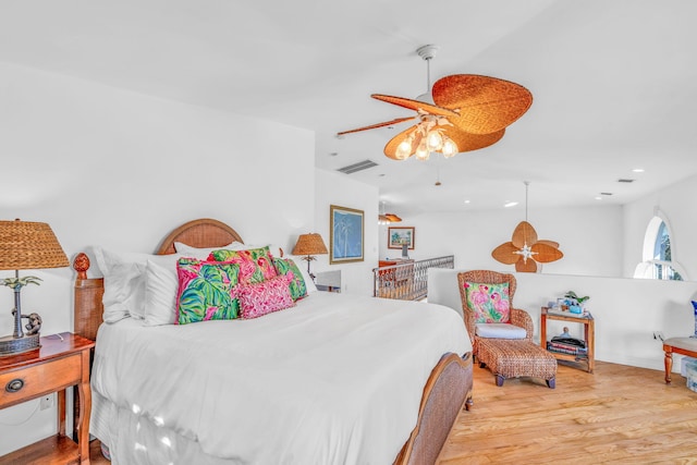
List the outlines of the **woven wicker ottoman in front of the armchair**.
<svg viewBox="0 0 697 465">
<path fill-rule="evenodd" d="M 497 386 L 506 378 L 529 376 L 554 389 L 557 358 L 529 340 L 479 339 L 477 357 L 479 366 L 488 366 L 497 377 Z"/>
</svg>

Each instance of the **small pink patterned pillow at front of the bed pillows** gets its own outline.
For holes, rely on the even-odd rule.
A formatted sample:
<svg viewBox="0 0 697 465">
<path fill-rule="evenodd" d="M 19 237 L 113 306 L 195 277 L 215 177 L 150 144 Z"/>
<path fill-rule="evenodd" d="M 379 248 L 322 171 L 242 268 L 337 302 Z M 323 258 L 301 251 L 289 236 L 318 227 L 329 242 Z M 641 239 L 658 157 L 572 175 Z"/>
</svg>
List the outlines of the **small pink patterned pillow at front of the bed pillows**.
<svg viewBox="0 0 697 465">
<path fill-rule="evenodd" d="M 237 285 L 240 317 L 257 318 L 295 306 L 288 284 L 289 276 L 285 274 L 260 283 Z"/>
</svg>

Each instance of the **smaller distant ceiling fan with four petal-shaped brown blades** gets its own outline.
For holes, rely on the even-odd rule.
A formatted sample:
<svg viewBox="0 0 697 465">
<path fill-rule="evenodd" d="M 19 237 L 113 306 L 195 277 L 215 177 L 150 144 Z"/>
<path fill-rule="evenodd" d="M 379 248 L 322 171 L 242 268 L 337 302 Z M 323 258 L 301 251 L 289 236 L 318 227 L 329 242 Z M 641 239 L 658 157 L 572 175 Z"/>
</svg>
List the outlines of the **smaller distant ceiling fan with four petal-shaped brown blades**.
<svg viewBox="0 0 697 465">
<path fill-rule="evenodd" d="M 501 244 L 491 252 L 491 256 L 505 265 L 514 265 L 515 271 L 537 271 L 537 264 L 557 261 L 564 256 L 559 249 L 559 243 L 554 241 L 538 240 L 533 224 L 527 222 L 527 189 L 529 181 L 525 181 L 525 221 L 521 221 L 511 242 Z"/>
</svg>

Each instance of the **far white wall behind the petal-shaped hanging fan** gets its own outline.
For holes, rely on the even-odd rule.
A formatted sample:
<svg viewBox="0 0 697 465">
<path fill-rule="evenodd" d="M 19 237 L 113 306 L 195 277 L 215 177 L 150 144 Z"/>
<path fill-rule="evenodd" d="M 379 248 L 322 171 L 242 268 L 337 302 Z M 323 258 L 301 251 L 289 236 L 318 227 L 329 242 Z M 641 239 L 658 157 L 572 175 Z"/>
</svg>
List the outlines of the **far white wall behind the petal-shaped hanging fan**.
<svg viewBox="0 0 697 465">
<path fill-rule="evenodd" d="M 414 227 L 414 250 L 409 257 L 426 259 L 454 255 L 455 268 L 513 271 L 491 257 L 491 250 L 511 241 L 525 210 L 465 211 L 402 216 L 396 227 Z M 622 209 L 617 206 L 535 209 L 528 221 L 540 240 L 560 244 L 564 257 L 542 266 L 542 272 L 582 276 L 622 276 Z M 389 225 L 380 227 L 380 257 L 398 257 L 388 249 Z"/>
</svg>

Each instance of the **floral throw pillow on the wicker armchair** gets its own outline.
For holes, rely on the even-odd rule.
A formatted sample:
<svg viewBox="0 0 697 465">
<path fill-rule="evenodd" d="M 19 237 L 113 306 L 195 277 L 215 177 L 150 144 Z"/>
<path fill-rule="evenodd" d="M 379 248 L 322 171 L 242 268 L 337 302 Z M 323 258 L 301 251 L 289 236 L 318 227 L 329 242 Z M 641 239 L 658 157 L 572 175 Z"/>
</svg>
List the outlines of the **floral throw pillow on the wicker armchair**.
<svg viewBox="0 0 697 465">
<path fill-rule="evenodd" d="M 511 319 L 509 283 L 465 282 L 467 306 L 477 323 L 508 323 Z"/>
</svg>

